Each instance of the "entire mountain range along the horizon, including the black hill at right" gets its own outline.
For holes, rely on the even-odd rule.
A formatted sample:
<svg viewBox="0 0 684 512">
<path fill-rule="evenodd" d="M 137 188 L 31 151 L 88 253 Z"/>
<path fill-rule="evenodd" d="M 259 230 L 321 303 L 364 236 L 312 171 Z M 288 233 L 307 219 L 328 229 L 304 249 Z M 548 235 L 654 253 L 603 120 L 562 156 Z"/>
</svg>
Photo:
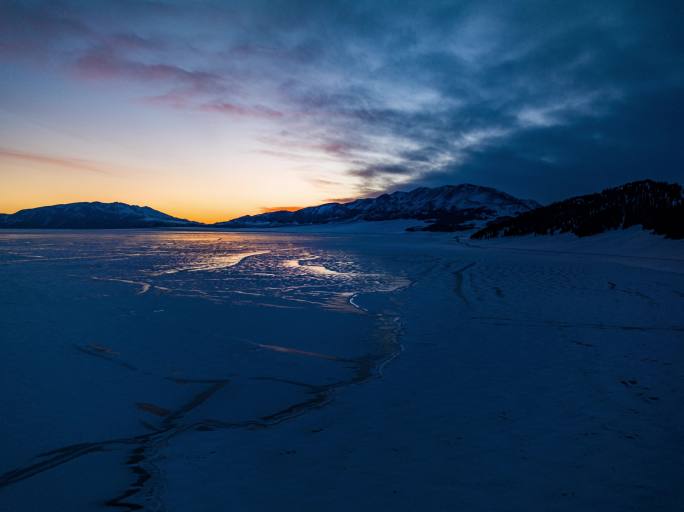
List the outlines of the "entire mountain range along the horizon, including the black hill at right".
<svg viewBox="0 0 684 512">
<path fill-rule="evenodd" d="M 587 236 L 634 225 L 667 237 L 684 238 L 684 196 L 679 184 L 643 180 L 541 206 L 493 188 L 463 184 L 246 215 L 211 225 L 173 217 L 148 206 L 70 203 L 0 214 L 0 228 L 255 229 L 394 219 L 424 221 L 412 230 L 425 231 L 471 230 L 486 224 L 472 235 L 475 239 L 554 233 Z"/>
</svg>

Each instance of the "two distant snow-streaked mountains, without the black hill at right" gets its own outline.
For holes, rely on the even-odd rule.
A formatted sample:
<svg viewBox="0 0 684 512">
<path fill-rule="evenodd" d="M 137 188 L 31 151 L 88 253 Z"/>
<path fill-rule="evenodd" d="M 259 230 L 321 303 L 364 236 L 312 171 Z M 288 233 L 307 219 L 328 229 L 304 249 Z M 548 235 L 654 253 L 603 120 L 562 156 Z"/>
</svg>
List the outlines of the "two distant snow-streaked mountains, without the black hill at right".
<svg viewBox="0 0 684 512">
<path fill-rule="evenodd" d="M 394 192 L 349 203 L 327 203 L 297 211 L 246 215 L 212 224 L 222 228 L 271 228 L 352 222 L 357 220 L 421 219 L 434 222 L 491 220 L 538 207 L 493 188 L 447 185 Z M 451 224 L 450 224 L 451 225 Z M 70 203 L 0 214 L 0 228 L 150 228 L 206 226 L 172 217 L 148 206 L 125 203 Z"/>
</svg>

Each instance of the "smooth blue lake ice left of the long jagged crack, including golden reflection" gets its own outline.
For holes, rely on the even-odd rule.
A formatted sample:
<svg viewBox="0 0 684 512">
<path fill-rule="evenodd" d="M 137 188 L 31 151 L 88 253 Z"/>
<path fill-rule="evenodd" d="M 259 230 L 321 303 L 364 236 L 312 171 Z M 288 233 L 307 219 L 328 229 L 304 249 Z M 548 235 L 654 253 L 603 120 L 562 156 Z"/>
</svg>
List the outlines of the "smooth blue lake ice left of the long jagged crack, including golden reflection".
<svg viewBox="0 0 684 512">
<path fill-rule="evenodd" d="M 158 492 L 160 453 L 181 435 L 269 428 L 380 375 L 398 328 L 352 302 L 404 285 L 378 265 L 307 236 L 0 234 L 0 299 L 13 318 L 3 370 L 21 370 L 11 400 L 54 426 L 38 433 L 31 415 L 9 411 L 0 488 L 37 489 L 33 477 L 55 468 L 77 488 L 82 461 L 116 452 L 137 480 L 112 480 L 101 498 L 136 509 Z M 84 416 L 91 403 L 105 412 Z"/>
</svg>

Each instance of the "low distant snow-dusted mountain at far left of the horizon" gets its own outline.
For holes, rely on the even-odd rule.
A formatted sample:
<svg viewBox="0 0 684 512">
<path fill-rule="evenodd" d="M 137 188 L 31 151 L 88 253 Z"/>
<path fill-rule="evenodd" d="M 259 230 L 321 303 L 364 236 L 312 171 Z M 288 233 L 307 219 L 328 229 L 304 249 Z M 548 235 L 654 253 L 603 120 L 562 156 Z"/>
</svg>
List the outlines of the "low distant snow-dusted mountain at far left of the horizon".
<svg viewBox="0 0 684 512">
<path fill-rule="evenodd" d="M 0 228 L 149 228 L 200 225 L 149 206 L 125 203 L 69 203 L 0 215 Z"/>
</svg>

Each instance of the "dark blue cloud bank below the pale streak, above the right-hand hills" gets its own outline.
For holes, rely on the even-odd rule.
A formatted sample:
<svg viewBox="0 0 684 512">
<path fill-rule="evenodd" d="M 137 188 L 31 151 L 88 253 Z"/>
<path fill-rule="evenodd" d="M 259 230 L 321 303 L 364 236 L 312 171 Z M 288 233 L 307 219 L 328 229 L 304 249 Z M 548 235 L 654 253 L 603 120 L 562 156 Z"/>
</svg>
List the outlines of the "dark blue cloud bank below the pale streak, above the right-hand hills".
<svg viewBox="0 0 684 512">
<path fill-rule="evenodd" d="M 473 148 L 458 168 L 444 172 L 546 202 L 644 178 L 682 182 L 683 116 L 681 89 L 658 90 L 639 102 L 624 101 L 606 116 L 539 125 Z M 433 175 L 411 185 L 438 181 Z"/>
</svg>

